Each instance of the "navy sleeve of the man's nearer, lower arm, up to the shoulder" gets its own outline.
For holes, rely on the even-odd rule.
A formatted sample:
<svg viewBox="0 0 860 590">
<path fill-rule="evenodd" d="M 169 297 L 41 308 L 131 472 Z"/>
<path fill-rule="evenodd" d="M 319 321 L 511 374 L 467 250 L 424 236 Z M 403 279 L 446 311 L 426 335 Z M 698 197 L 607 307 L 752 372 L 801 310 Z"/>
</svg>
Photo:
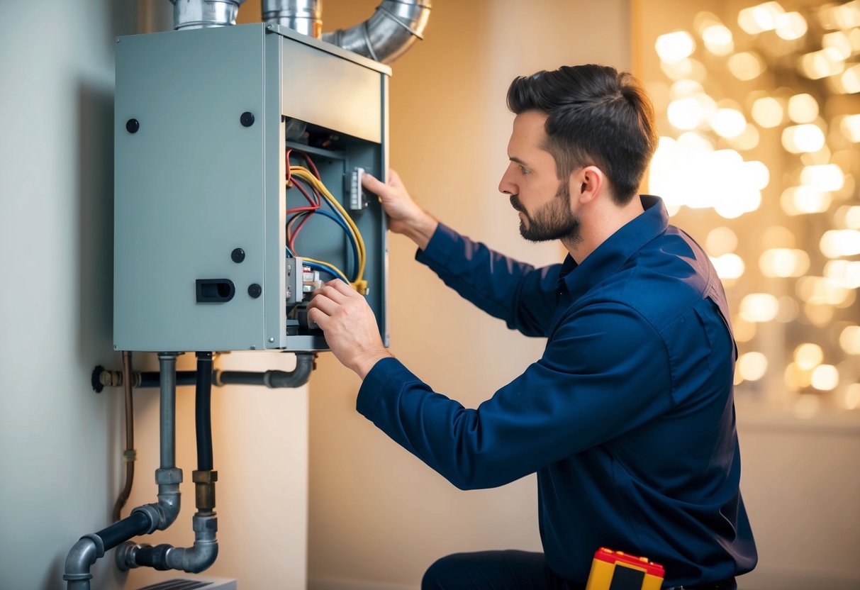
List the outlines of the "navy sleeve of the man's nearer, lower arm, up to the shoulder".
<svg viewBox="0 0 860 590">
<path fill-rule="evenodd" d="M 672 407 L 660 336 L 622 304 L 569 318 L 544 356 L 477 409 L 398 360 L 365 377 L 357 409 L 460 489 L 493 488 L 636 428 Z"/>
</svg>

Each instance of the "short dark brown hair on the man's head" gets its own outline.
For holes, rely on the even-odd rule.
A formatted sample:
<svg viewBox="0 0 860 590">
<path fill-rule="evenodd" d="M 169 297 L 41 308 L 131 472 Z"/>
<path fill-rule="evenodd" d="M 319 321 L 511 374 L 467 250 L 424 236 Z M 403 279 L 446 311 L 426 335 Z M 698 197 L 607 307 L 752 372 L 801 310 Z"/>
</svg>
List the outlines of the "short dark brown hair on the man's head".
<svg viewBox="0 0 860 590">
<path fill-rule="evenodd" d="M 565 65 L 513 80 L 507 108 L 515 114 L 539 111 L 546 120 L 546 144 L 565 180 L 575 169 L 594 165 L 625 205 L 636 195 L 657 147 L 654 107 L 628 72 L 605 65 Z"/>
</svg>

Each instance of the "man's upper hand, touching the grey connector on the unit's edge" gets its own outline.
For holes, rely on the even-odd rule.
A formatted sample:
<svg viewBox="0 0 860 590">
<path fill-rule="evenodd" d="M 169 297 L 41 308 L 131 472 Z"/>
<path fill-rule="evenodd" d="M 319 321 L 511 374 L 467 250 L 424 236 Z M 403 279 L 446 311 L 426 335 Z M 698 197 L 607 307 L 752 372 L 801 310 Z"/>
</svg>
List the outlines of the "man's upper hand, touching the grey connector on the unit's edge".
<svg viewBox="0 0 860 590">
<path fill-rule="evenodd" d="M 378 195 L 388 215 L 391 231 L 412 239 L 421 249 L 427 248 L 439 222 L 412 200 L 394 170 L 388 172 L 388 183 L 365 174 L 361 184 L 371 193 Z"/>
</svg>

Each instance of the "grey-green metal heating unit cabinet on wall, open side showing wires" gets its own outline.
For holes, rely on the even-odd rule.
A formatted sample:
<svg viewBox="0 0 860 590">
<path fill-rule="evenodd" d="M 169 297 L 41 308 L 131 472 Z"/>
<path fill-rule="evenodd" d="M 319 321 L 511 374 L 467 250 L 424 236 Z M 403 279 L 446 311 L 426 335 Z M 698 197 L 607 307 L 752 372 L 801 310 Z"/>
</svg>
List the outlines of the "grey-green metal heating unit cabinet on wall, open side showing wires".
<svg viewBox="0 0 860 590">
<path fill-rule="evenodd" d="M 121 37 L 114 347 L 320 350 L 322 281 L 363 292 L 388 344 L 390 69 L 278 25 Z"/>
</svg>

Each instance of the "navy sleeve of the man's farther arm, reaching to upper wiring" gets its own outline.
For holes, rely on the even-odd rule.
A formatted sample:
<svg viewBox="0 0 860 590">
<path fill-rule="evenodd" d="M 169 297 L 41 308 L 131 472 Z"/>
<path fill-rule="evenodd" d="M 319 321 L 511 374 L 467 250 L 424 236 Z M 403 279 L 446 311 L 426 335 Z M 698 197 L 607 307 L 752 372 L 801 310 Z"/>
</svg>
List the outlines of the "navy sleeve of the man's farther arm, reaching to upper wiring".
<svg viewBox="0 0 860 590">
<path fill-rule="evenodd" d="M 535 268 L 439 224 L 415 259 L 463 298 L 529 336 L 545 336 L 556 309 L 561 265 Z"/>
</svg>

